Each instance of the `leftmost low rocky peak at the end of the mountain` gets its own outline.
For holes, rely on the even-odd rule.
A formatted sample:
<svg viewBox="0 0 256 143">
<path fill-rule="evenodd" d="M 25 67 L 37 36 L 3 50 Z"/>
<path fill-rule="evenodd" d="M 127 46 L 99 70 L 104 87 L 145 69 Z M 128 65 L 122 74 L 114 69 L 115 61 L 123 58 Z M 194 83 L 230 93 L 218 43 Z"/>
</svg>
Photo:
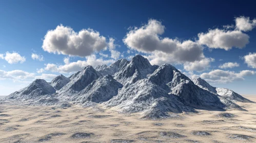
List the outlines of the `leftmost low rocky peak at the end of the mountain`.
<svg viewBox="0 0 256 143">
<path fill-rule="evenodd" d="M 6 99 L 27 101 L 31 99 L 38 99 L 40 96 L 55 93 L 55 89 L 45 80 L 37 79 L 33 81 L 28 87 L 19 91 L 11 93 Z"/>
</svg>

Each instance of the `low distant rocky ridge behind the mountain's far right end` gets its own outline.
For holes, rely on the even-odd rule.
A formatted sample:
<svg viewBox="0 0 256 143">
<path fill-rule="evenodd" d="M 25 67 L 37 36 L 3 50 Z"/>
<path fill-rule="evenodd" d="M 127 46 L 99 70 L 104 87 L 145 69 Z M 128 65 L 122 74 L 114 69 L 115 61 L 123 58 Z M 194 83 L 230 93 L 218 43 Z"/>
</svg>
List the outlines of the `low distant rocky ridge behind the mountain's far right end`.
<svg viewBox="0 0 256 143">
<path fill-rule="evenodd" d="M 216 93 L 219 96 L 221 96 L 225 99 L 228 99 L 230 101 L 233 101 L 233 102 L 252 102 L 252 101 L 242 97 L 240 94 L 238 94 L 238 93 L 236 93 L 236 92 L 234 92 L 230 89 L 213 87 L 201 78 L 193 78 L 191 80 L 194 82 L 194 84 L 198 85 L 199 87 L 201 87 L 205 90 L 208 90 L 212 93 Z"/>
</svg>

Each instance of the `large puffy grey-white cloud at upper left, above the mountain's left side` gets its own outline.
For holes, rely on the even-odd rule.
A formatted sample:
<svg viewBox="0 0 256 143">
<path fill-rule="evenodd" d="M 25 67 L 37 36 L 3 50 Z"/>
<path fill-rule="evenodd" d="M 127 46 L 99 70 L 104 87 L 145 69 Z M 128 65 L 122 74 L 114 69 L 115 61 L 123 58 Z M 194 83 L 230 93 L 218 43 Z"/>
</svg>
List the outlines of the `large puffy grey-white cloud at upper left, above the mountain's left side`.
<svg viewBox="0 0 256 143">
<path fill-rule="evenodd" d="M 106 38 L 93 29 L 75 32 L 60 25 L 47 32 L 42 47 L 49 53 L 85 57 L 106 49 L 107 45 Z"/>
</svg>

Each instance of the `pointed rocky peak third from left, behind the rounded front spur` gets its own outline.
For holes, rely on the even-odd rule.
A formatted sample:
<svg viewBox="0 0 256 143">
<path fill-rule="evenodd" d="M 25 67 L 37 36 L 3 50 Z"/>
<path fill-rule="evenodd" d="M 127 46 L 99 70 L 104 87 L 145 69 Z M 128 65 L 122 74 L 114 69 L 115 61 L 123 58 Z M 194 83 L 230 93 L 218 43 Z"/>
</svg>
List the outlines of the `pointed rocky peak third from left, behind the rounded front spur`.
<svg viewBox="0 0 256 143">
<path fill-rule="evenodd" d="M 91 82 L 99 78 L 101 75 L 92 66 L 86 66 L 83 70 L 75 73 L 70 79 L 71 81 L 63 86 L 59 93 L 65 96 L 72 96 L 80 92 Z"/>
</svg>

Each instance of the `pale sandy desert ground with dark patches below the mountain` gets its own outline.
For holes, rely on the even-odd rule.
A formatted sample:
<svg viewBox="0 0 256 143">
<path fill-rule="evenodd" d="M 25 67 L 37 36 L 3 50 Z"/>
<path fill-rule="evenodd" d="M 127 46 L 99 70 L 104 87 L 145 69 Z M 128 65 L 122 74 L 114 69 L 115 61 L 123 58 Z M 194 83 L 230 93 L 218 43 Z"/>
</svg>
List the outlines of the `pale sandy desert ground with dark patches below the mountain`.
<svg viewBox="0 0 256 143">
<path fill-rule="evenodd" d="M 164 120 L 103 107 L 0 104 L 0 142 L 256 142 L 256 103 L 238 104 L 248 111 L 198 110 Z"/>
</svg>

